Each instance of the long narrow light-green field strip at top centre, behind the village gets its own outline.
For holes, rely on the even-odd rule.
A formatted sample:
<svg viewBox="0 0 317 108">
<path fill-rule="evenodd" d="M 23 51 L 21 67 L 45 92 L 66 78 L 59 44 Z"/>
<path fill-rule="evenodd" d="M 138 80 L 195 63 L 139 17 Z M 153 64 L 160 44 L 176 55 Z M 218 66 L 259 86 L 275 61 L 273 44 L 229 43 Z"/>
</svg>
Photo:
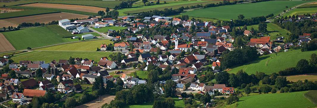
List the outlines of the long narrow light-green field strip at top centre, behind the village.
<svg viewBox="0 0 317 108">
<path fill-rule="evenodd" d="M 132 6 L 132 8 L 129 8 L 129 9 L 120 9 L 118 10 L 119 12 L 119 15 L 125 15 L 127 13 L 130 13 L 130 14 L 136 14 L 136 13 L 139 13 L 139 12 L 143 12 L 143 11 L 150 11 L 150 10 L 154 10 L 154 9 L 158 9 L 158 10 L 164 10 L 165 8 L 167 9 L 178 9 L 180 7 L 190 7 L 190 6 L 194 6 L 194 5 L 197 5 L 197 4 L 210 4 L 210 3 L 219 3 L 220 1 L 178 1 L 178 2 L 174 2 L 174 3 L 167 3 L 167 4 L 159 4 L 159 5 L 156 5 L 155 2 L 154 2 L 154 5 L 152 6 L 143 6 L 143 5 L 136 5 L 136 6 Z M 163 2 L 161 2 L 163 3 Z M 153 4 L 153 3 L 152 3 Z M 122 14 L 124 13 L 124 14 Z"/>
</svg>

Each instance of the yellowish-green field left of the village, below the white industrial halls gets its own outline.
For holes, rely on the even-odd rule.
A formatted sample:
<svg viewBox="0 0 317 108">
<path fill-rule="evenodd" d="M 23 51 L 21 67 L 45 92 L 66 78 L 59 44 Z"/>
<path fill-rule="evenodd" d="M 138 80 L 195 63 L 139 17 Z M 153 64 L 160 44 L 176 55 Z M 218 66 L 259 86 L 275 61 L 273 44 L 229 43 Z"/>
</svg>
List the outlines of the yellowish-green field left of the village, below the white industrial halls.
<svg viewBox="0 0 317 108">
<path fill-rule="evenodd" d="M 78 40 L 78 39 L 75 39 Z M 68 43 L 62 45 L 56 45 L 46 48 L 39 48 L 36 50 L 53 50 L 53 51 L 96 51 L 97 48 L 100 48 L 101 44 L 113 43 L 109 39 L 104 40 L 95 40 L 95 41 L 85 41 L 78 43 Z"/>
</svg>

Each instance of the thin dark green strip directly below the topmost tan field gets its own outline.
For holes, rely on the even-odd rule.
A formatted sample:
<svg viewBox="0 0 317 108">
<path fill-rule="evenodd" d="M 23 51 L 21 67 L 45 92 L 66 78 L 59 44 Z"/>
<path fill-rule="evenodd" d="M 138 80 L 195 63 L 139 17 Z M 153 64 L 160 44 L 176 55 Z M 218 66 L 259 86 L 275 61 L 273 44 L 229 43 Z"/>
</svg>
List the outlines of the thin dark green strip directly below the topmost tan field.
<svg viewBox="0 0 317 108">
<path fill-rule="evenodd" d="M 9 6 L 9 8 L 18 8 L 18 9 L 41 9 L 41 10 L 51 10 L 51 11 L 59 11 L 59 12 L 73 13 L 73 14 L 98 15 L 97 13 L 83 12 L 83 11 L 69 10 L 69 9 L 40 8 L 40 7 L 27 7 L 27 6 Z M 20 12 L 22 12 L 22 11 L 20 11 Z"/>
</svg>

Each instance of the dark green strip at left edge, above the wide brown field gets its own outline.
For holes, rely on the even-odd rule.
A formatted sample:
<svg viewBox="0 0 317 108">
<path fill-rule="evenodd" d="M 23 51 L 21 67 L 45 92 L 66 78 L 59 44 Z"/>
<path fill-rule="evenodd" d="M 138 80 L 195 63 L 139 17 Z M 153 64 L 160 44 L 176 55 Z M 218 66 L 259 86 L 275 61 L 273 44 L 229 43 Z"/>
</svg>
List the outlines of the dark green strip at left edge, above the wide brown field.
<svg viewBox="0 0 317 108">
<path fill-rule="evenodd" d="M 40 9 L 24 10 L 24 11 L 1 13 L 0 19 L 16 18 L 16 17 L 23 17 L 23 16 L 39 15 L 39 14 L 51 14 L 51 13 L 59 13 L 59 12 L 60 11 L 40 10 Z"/>
</svg>

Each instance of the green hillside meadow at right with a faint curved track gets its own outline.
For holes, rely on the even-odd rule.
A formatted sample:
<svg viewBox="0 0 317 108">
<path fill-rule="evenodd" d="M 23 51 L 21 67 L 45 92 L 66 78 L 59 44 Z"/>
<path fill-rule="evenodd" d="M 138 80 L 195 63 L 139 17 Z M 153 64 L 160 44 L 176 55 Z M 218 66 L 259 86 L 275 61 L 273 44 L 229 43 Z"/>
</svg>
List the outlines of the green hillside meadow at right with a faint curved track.
<svg viewBox="0 0 317 108">
<path fill-rule="evenodd" d="M 228 72 L 236 73 L 239 70 L 243 70 L 248 74 L 256 74 L 256 71 L 261 71 L 265 74 L 271 74 L 273 72 L 278 73 L 278 71 L 285 70 L 286 68 L 295 67 L 297 62 L 301 59 L 309 60 L 310 55 L 313 53 L 317 53 L 317 50 L 301 52 L 301 50 L 298 49 L 288 52 L 277 53 L 278 55 L 276 57 L 274 57 L 276 54 L 268 54 L 265 56 L 261 56 L 252 62 L 245 63 L 241 66 L 235 67 Z M 266 62 L 268 60 L 270 61 L 266 66 Z"/>
</svg>

